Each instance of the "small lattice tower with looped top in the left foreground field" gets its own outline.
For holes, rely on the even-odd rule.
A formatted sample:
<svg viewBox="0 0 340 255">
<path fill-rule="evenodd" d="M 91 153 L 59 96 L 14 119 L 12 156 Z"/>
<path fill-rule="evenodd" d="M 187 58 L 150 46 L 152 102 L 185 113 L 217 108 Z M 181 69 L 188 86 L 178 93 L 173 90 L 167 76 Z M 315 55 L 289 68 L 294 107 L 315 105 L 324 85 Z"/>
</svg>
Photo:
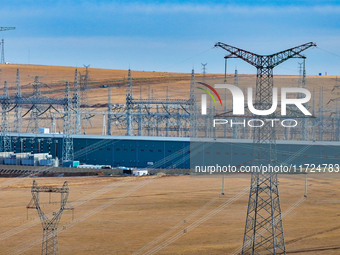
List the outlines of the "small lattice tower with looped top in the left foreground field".
<svg viewBox="0 0 340 255">
<path fill-rule="evenodd" d="M 34 180 L 32 185 L 32 198 L 34 201 L 34 207 L 37 209 L 41 224 L 43 227 L 43 240 L 42 240 L 42 255 L 57 255 L 59 254 L 58 249 L 58 224 L 61 215 L 65 209 L 65 205 L 68 199 L 69 188 L 67 182 L 61 188 L 49 187 L 49 186 L 38 186 Z M 39 193 L 60 193 L 60 209 L 53 212 L 52 217 L 49 218 L 41 209 L 39 203 Z"/>
</svg>

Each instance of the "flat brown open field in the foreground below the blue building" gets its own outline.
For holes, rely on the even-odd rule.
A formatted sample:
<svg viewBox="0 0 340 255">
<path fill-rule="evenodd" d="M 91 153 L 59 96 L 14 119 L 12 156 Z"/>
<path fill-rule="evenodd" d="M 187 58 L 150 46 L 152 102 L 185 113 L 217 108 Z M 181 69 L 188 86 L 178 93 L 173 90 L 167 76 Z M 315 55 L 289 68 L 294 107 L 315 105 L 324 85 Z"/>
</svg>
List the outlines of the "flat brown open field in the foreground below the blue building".
<svg viewBox="0 0 340 255">
<path fill-rule="evenodd" d="M 280 177 L 287 254 L 340 253 L 340 175 Z M 221 177 L 37 178 L 69 183 L 59 224 L 60 254 L 238 254 L 245 225 L 249 175 Z M 0 254 L 40 254 L 42 226 L 28 211 L 32 178 L 1 179 Z M 41 196 L 41 207 L 60 197 Z"/>
</svg>

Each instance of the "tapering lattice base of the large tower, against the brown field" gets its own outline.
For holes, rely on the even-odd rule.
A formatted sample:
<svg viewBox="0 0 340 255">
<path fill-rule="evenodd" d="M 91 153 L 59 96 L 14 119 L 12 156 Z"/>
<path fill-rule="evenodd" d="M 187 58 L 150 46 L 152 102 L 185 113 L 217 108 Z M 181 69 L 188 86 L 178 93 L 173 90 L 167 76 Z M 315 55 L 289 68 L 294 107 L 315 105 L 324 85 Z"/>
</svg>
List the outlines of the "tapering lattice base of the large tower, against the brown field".
<svg viewBox="0 0 340 255">
<path fill-rule="evenodd" d="M 242 254 L 286 254 L 277 174 L 252 174 Z"/>
</svg>

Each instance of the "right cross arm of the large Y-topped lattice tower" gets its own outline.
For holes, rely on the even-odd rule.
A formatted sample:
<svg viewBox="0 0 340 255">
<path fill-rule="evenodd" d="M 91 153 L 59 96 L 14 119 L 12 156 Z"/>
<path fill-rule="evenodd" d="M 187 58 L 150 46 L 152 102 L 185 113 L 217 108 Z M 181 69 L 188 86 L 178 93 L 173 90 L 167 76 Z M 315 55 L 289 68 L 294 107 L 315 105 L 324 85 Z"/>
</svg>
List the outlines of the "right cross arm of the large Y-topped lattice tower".
<svg viewBox="0 0 340 255">
<path fill-rule="evenodd" d="M 305 43 L 300 46 L 296 46 L 294 48 L 269 55 L 268 57 L 271 58 L 270 67 L 275 67 L 290 58 L 304 57 L 300 55 L 300 53 L 303 52 L 304 50 L 307 50 L 310 47 L 316 47 L 316 43 L 313 42 Z"/>
</svg>

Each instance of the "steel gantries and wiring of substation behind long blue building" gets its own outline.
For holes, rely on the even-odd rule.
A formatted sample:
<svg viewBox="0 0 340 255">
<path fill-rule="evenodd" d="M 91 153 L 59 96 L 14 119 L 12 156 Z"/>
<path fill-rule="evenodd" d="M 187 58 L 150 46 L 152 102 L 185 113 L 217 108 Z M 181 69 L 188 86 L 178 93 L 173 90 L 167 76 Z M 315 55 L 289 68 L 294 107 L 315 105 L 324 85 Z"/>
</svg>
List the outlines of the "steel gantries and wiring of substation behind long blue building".
<svg viewBox="0 0 340 255">
<path fill-rule="evenodd" d="M 296 54 L 303 58 L 302 55 Z M 247 56 L 244 56 L 247 57 Z M 288 56 L 289 57 L 289 56 Z M 304 58 L 303 58 L 304 60 Z M 299 86 L 307 87 L 306 73 L 302 66 Z M 261 75 L 261 74 L 259 74 Z M 263 76 L 263 75 L 262 75 Z M 205 78 L 206 83 L 215 82 Z M 257 79 L 260 81 L 259 78 Z M 194 71 L 191 74 L 190 94 L 187 99 L 176 99 L 169 95 L 166 88 L 165 98 L 154 98 L 149 89 L 148 96 L 138 95 L 134 89 L 132 72 L 128 71 L 126 85 L 126 103 L 115 104 L 112 102 L 111 88 L 122 86 L 108 84 L 108 100 L 98 106 L 88 102 L 88 86 L 91 84 L 89 70 L 81 74 L 75 70 L 74 82 L 65 82 L 64 96 L 49 97 L 48 89 L 52 85 L 42 83 L 39 76 L 35 76 L 30 84 L 21 86 L 20 70 L 17 70 L 15 92 L 10 94 L 7 82 L 4 82 L 3 94 L 0 97 L 1 103 L 1 143 L 2 152 L 18 152 L 15 141 L 21 138 L 24 132 L 37 134 L 40 127 L 49 127 L 52 133 L 60 133 L 63 136 L 62 160 L 72 161 L 73 136 L 81 135 L 82 130 L 86 131 L 87 126 L 94 116 L 103 118 L 103 135 L 123 135 L 130 137 L 153 136 L 153 137 L 206 137 L 206 138 L 234 138 L 252 139 L 252 128 L 249 126 L 239 126 L 236 128 L 219 125 L 215 128 L 210 125 L 214 117 L 230 117 L 231 105 L 224 104 L 218 107 L 211 101 L 207 105 L 207 114 L 200 114 L 200 97 L 197 85 L 201 79 L 195 79 Z M 230 81 L 230 78 L 228 78 Z M 238 86 L 239 75 L 235 72 L 232 80 Z M 213 85 L 213 84 L 211 84 Z M 32 88 L 32 93 L 21 92 L 22 89 Z M 42 91 L 42 88 L 44 91 Z M 102 88 L 105 91 L 105 88 Z M 308 108 L 314 118 L 301 118 L 301 125 L 295 128 L 283 128 L 277 126 L 275 129 L 278 140 L 295 141 L 339 141 L 340 140 L 340 108 L 339 93 L 340 87 L 335 80 L 332 89 L 334 98 L 324 104 L 323 88 L 319 90 L 319 97 L 312 91 L 312 102 Z M 61 92 L 61 90 L 59 90 Z M 105 92 L 104 92 L 105 93 Z M 224 95 L 223 95 L 224 93 Z M 227 102 L 227 91 L 220 93 Z M 319 104 L 316 104 L 316 101 Z M 326 105 L 326 107 L 324 106 Z M 105 109 L 106 108 L 106 109 Z M 235 118 L 237 120 L 237 118 Z M 23 125 L 26 121 L 27 125 Z M 62 121 L 62 129 L 57 130 L 56 123 Z M 24 129 L 25 127 L 25 129 Z M 84 136 L 85 137 L 85 136 Z M 46 141 L 45 141 L 46 140 Z M 50 143 L 50 139 L 41 138 L 41 143 Z M 21 151 L 20 151 L 21 152 Z"/>
</svg>

